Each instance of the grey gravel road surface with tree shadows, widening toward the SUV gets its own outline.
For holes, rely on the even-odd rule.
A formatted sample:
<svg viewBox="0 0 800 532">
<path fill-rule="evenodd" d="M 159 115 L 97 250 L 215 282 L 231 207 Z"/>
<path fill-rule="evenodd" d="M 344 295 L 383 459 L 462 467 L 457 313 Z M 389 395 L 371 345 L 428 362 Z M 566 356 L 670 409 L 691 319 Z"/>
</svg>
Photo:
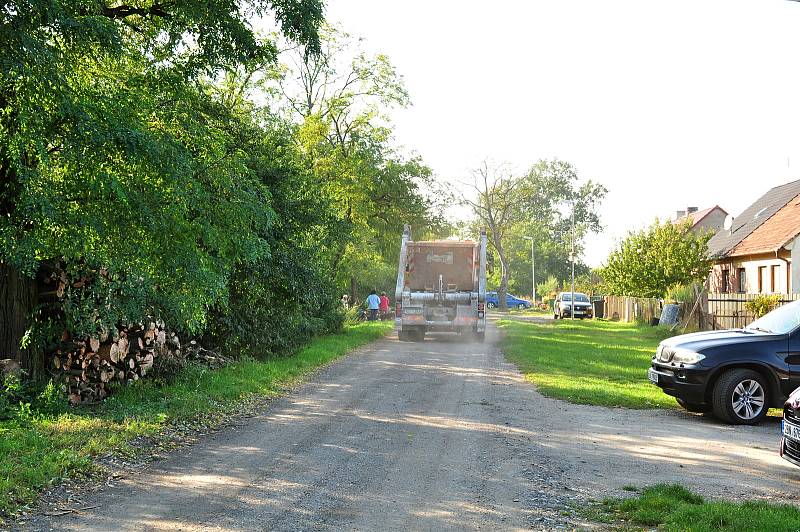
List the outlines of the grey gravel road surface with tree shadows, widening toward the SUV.
<svg viewBox="0 0 800 532">
<path fill-rule="evenodd" d="M 259 417 L 82 497 L 34 530 L 584 528 L 626 485 L 796 501 L 777 423 L 539 395 L 496 347 L 432 335 L 353 353 Z"/>
</svg>

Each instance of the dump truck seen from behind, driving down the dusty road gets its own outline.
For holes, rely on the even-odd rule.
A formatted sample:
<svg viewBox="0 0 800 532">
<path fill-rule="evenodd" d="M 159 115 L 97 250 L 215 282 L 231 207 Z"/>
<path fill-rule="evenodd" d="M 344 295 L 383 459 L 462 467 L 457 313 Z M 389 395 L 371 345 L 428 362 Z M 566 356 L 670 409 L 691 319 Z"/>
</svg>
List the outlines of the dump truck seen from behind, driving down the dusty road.
<svg viewBox="0 0 800 532">
<path fill-rule="evenodd" d="M 401 341 L 448 331 L 483 341 L 486 333 L 486 231 L 471 240 L 411 240 L 400 244 L 395 325 Z"/>
</svg>

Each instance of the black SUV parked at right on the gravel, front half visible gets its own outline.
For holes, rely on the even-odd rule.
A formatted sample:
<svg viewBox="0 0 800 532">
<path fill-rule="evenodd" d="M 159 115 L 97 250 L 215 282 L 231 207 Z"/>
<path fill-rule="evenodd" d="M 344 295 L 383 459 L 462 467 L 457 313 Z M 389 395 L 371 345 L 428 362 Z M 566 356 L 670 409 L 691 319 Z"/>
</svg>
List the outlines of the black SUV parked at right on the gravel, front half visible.
<svg viewBox="0 0 800 532">
<path fill-rule="evenodd" d="M 689 411 L 754 425 L 800 386 L 800 301 L 744 329 L 668 338 L 647 376 Z"/>
</svg>

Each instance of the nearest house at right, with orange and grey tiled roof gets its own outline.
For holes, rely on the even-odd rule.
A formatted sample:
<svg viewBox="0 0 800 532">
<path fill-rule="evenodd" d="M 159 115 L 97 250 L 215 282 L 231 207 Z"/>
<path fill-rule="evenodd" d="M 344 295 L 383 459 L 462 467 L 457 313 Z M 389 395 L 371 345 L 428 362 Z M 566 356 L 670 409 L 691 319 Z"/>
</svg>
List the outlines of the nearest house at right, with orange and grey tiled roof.
<svg viewBox="0 0 800 532">
<path fill-rule="evenodd" d="M 800 180 L 775 187 L 709 241 L 712 292 L 800 292 Z"/>
</svg>

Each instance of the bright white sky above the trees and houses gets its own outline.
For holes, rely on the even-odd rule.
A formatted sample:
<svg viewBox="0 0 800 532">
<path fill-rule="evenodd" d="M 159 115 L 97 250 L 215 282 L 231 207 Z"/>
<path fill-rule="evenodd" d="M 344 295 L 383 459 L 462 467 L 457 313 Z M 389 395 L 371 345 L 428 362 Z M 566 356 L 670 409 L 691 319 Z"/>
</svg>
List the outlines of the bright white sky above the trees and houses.
<svg viewBox="0 0 800 532">
<path fill-rule="evenodd" d="M 395 141 L 439 179 L 559 158 L 605 185 L 592 266 L 656 217 L 735 216 L 800 179 L 800 2 L 328 0 L 327 18 L 402 74 Z"/>
</svg>

